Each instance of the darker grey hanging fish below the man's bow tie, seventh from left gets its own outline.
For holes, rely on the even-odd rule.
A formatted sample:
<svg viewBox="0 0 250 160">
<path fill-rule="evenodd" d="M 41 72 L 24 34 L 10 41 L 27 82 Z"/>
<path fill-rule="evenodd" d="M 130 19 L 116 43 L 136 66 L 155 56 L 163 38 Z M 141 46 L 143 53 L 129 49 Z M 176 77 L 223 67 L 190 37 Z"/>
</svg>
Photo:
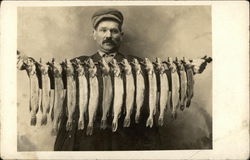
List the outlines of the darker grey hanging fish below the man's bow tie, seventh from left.
<svg viewBox="0 0 250 160">
<path fill-rule="evenodd" d="M 107 116 L 111 107 L 111 102 L 113 100 L 113 87 L 110 74 L 110 67 L 103 57 L 99 62 L 102 72 L 103 81 L 103 100 L 102 100 L 102 119 L 101 119 L 101 129 L 107 128 Z"/>
</svg>

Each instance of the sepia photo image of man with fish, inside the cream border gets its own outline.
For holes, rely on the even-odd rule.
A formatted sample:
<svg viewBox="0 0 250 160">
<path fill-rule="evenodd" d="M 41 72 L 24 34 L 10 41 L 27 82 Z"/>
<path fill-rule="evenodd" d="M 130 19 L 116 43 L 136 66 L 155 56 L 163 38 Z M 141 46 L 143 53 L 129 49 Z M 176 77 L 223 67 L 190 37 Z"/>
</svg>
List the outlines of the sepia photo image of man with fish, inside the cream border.
<svg viewBox="0 0 250 160">
<path fill-rule="evenodd" d="M 17 30 L 18 151 L 212 149 L 211 6 L 18 7 Z"/>
</svg>

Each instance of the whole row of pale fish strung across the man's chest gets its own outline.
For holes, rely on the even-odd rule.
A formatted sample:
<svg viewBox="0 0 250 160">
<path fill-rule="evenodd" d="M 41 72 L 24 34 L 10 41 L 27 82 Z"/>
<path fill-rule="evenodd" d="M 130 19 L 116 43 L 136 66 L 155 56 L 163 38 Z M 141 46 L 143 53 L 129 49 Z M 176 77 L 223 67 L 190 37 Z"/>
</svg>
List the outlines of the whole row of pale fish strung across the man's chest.
<svg viewBox="0 0 250 160">
<path fill-rule="evenodd" d="M 86 134 L 92 135 L 101 94 L 103 97 L 101 129 L 107 128 L 107 117 L 112 111 L 112 131 L 117 130 L 124 104 L 123 127 L 130 126 L 134 107 L 135 123 L 139 123 L 145 100 L 148 101 L 149 111 L 146 127 L 155 125 L 153 119 L 157 110 L 159 110 L 158 125 L 163 126 L 167 107 L 171 110 L 172 118 L 176 119 L 177 109 L 183 110 L 191 104 L 194 74 L 202 73 L 206 64 L 211 61 L 210 57 L 205 56 L 195 60 L 187 60 L 185 57 L 173 60 L 169 57 L 162 61 L 156 58 L 154 62 L 148 58 L 142 61 L 134 58 L 129 62 L 124 58 L 121 62 L 113 59 L 107 63 L 102 58 L 95 63 L 88 58 L 84 62 L 79 59 L 75 61 L 66 59 L 58 63 L 53 59 L 44 63 L 41 59 L 37 62 L 18 53 L 17 67 L 25 69 L 30 80 L 31 125 L 36 125 L 36 114 L 40 108 L 41 125 L 47 124 L 50 115 L 53 123 L 52 134 L 56 135 L 65 102 L 68 117 L 66 130 L 72 130 L 73 115 L 76 107 L 79 107 L 78 129 L 83 130 L 86 127 Z M 101 70 L 101 75 L 97 73 L 98 68 Z M 98 79 L 98 76 L 101 76 L 101 79 Z M 149 94 L 145 97 L 147 87 Z M 84 126 L 86 119 L 88 125 Z"/>
</svg>

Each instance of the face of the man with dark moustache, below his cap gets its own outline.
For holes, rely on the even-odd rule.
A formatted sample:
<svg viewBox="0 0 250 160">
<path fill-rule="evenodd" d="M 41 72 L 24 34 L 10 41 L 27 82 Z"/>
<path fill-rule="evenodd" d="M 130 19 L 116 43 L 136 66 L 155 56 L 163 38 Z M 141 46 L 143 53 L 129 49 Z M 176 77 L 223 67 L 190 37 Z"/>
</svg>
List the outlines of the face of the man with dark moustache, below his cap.
<svg viewBox="0 0 250 160">
<path fill-rule="evenodd" d="M 93 36 L 101 51 L 111 53 L 118 51 L 123 32 L 120 31 L 117 22 L 105 20 L 99 23 L 94 30 Z"/>
</svg>

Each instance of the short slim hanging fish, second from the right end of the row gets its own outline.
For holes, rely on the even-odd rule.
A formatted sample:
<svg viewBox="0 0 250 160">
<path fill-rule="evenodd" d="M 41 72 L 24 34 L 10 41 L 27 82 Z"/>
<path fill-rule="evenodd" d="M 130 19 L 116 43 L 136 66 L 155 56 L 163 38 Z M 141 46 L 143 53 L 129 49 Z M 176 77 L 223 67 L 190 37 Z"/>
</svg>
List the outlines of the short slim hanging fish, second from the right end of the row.
<svg viewBox="0 0 250 160">
<path fill-rule="evenodd" d="M 187 98 L 187 74 L 183 63 L 176 58 L 175 60 L 177 71 L 180 79 L 180 109 L 184 110 L 186 108 L 186 98 Z"/>
</svg>

